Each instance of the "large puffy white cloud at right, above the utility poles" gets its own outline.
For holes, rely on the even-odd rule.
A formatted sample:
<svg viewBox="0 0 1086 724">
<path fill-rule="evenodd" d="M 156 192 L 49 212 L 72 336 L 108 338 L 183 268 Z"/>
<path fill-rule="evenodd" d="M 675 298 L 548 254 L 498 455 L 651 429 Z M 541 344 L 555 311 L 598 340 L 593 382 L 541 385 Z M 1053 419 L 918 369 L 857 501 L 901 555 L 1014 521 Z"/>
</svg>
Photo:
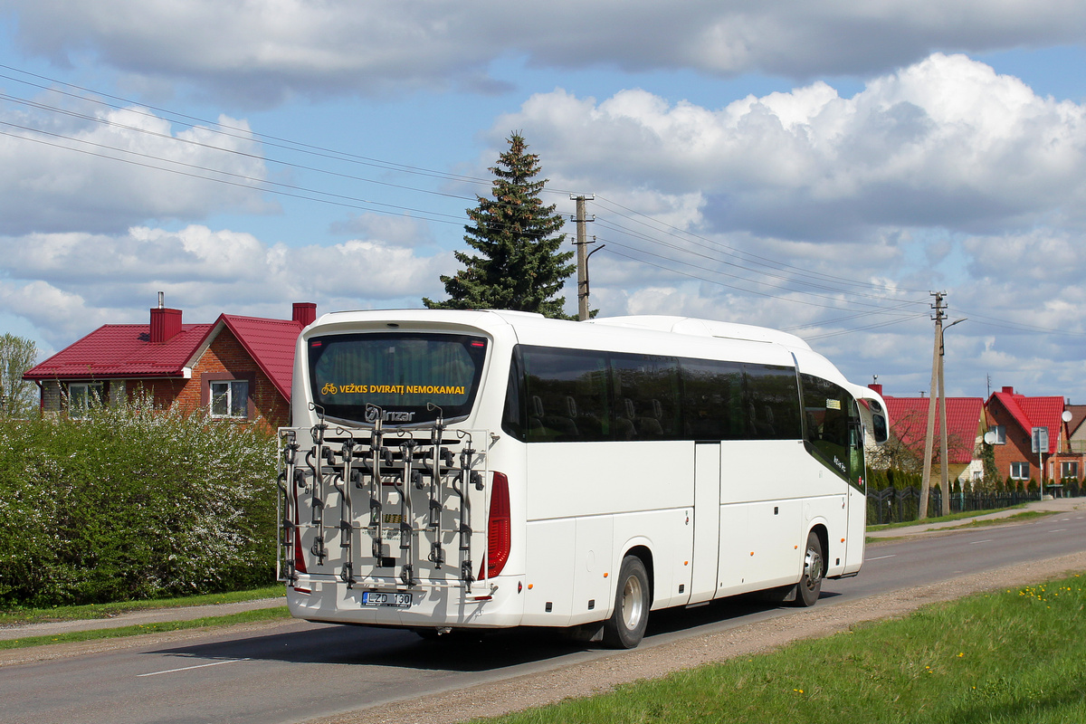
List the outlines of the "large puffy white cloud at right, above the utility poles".
<svg viewBox="0 0 1086 724">
<path fill-rule="evenodd" d="M 853 98 L 819 81 L 720 110 L 643 90 L 597 102 L 559 89 L 500 117 L 495 143 L 508 128 L 525 129 L 564 185 L 608 198 L 637 189 L 661 205 L 699 194 L 719 231 L 983 232 L 1077 218 L 1086 201 L 1086 109 L 962 55 L 932 55 Z"/>
</svg>

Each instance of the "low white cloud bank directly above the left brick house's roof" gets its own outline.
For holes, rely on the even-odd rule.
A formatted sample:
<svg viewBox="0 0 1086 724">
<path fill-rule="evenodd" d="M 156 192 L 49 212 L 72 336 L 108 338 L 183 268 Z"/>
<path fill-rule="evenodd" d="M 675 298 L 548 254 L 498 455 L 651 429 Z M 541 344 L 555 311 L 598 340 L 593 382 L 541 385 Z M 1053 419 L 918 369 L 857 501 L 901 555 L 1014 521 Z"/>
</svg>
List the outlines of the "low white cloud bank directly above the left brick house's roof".
<svg viewBox="0 0 1086 724">
<path fill-rule="evenodd" d="M 159 291 L 188 321 L 222 312 L 283 318 L 298 301 L 420 307 L 424 295 L 444 296 L 439 276 L 455 268 L 452 254 L 418 256 L 376 238 L 292 249 L 203 226 L 0 238 L 0 313 L 29 320 L 56 346 L 103 323 L 143 321 Z"/>
</svg>

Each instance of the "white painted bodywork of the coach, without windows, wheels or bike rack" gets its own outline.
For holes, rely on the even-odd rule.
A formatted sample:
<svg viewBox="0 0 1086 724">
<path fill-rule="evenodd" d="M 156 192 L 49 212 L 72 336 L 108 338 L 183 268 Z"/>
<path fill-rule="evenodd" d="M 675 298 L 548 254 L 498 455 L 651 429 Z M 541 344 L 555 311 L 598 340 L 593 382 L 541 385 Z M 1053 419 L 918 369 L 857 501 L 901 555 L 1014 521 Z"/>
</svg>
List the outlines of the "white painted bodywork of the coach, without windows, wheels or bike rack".
<svg viewBox="0 0 1086 724">
<path fill-rule="evenodd" d="M 829 576 L 859 570 L 864 495 L 812 458 L 803 441 L 526 444 L 501 428 L 517 344 L 798 364 L 803 372 L 849 384 L 799 338 L 678 317 L 566 323 L 508 312 L 325 315 L 304 330 L 295 354 L 293 430 L 303 442 L 318 421 L 308 409 L 308 339 L 383 332 L 391 325 L 405 332 L 470 333 L 489 340 L 475 407 L 450 431 L 470 430 L 473 440 L 485 442 L 487 488 L 480 505 L 472 504 L 475 568 L 485 558 L 487 531 L 480 521 L 487 518 L 491 475 L 501 471 L 508 477 L 508 562 L 497 577 L 470 585 L 457 580 L 455 566 L 434 570 L 424 564 L 416 586 L 402 585 L 392 570 L 371 568 L 359 571 L 359 582 L 349 587 L 337 574 L 336 533 L 326 541 L 328 562 L 317 564 L 307 552 L 313 533 L 303 531 L 299 539 L 307 570 L 288 585 L 293 615 L 430 628 L 570 626 L 611 615 L 614 582 L 622 558 L 633 549 L 647 552 L 653 609 L 659 609 L 798 582 L 812 530 L 824 532 Z M 350 427 L 337 420 L 329 424 Z M 334 495 L 329 496 L 326 506 L 334 504 Z M 298 508 L 302 521 L 310 512 L 304 501 Z M 361 597 L 369 589 L 411 589 L 415 604 L 408 609 L 364 607 Z"/>
</svg>

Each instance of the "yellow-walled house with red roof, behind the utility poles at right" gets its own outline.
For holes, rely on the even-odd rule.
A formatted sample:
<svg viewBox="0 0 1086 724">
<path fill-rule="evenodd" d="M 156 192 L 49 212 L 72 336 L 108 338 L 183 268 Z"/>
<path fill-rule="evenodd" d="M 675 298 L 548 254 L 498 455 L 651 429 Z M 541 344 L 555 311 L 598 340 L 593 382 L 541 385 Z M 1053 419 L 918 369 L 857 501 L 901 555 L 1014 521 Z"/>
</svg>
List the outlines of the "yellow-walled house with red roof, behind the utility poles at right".
<svg viewBox="0 0 1086 724">
<path fill-rule="evenodd" d="M 882 386 L 882 385 L 872 385 Z M 877 391 L 877 390 L 876 390 Z M 881 391 L 880 391 L 881 392 Z M 891 440 L 909 450 L 921 463 L 927 434 L 930 397 L 893 397 L 883 395 L 891 421 Z M 986 430 L 983 397 L 947 397 L 947 472 L 950 480 L 968 482 L 984 477 L 984 463 L 978 457 Z M 932 459 L 938 460 L 940 414 L 936 407 L 932 439 Z M 938 465 L 933 462 L 933 480 L 938 479 Z"/>
</svg>

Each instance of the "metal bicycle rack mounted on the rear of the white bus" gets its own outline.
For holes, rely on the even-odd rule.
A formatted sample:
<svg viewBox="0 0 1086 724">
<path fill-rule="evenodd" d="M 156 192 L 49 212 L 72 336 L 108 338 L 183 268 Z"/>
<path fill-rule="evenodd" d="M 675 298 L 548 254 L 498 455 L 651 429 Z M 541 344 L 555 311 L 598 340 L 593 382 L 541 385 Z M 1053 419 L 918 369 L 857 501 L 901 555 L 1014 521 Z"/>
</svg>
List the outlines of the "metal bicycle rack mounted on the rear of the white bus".
<svg viewBox="0 0 1086 724">
<path fill-rule="evenodd" d="M 304 467 L 298 463 L 303 431 L 280 431 L 281 580 L 293 584 L 306 572 L 305 560 L 299 557 L 304 555 L 300 541 L 308 531 L 312 545 L 304 552 L 313 556 L 317 568 L 333 564 L 337 557 L 329 552 L 328 542 L 339 536 L 342 561 L 334 561 L 336 572 L 349 588 L 367 577 L 362 574 L 367 562 L 374 569 L 372 579 L 380 577 L 378 569 L 399 567 L 400 583 L 416 586 L 424 568 L 439 571 L 447 563 L 444 537 L 452 534 L 458 548 L 457 580 L 472 586 L 472 533 L 487 531 L 472 526 L 471 513 L 478 504 L 473 497 L 485 491 L 488 472 L 485 450 L 477 449 L 473 441 L 488 435 L 475 437 L 478 431 L 465 430 L 449 435 L 437 409 L 433 424 L 395 430 L 383 428 L 383 410 L 377 407 L 367 410 L 371 422 L 364 429 L 331 428 L 317 410 L 318 423 L 305 431 L 312 445 L 305 450 Z M 387 491 L 394 499 L 387 498 Z M 355 493 L 362 492 L 368 494 L 368 508 L 359 509 L 355 503 Z M 311 510 L 308 522 L 302 523 L 305 505 Z M 338 524 L 329 523 L 333 511 L 339 515 Z M 366 534 L 371 542 L 370 561 L 355 542 L 357 535 Z M 399 556 L 393 556 L 393 541 Z"/>
</svg>

